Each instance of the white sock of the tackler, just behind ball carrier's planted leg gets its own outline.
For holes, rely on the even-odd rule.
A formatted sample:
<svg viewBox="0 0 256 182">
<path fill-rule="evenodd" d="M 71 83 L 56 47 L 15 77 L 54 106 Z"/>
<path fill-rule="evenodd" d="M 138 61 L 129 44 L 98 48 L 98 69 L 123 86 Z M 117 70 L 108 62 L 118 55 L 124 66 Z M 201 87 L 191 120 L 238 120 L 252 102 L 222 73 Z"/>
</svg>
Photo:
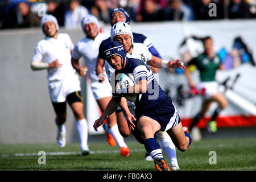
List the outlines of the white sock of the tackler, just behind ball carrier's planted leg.
<svg viewBox="0 0 256 182">
<path fill-rule="evenodd" d="M 176 147 L 174 142 L 172 142 L 171 137 L 166 133 L 166 131 L 160 131 L 158 137 L 160 145 L 162 146 L 164 154 L 166 154 L 169 162 L 177 166 Z"/>
</svg>

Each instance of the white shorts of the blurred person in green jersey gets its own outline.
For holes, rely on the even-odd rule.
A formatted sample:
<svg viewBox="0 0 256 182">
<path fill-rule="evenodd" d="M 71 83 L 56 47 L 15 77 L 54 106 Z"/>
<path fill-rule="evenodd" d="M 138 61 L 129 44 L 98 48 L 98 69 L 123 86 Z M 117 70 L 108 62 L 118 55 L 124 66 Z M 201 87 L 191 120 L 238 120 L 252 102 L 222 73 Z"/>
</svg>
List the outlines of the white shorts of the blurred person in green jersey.
<svg viewBox="0 0 256 182">
<path fill-rule="evenodd" d="M 218 83 L 216 81 L 199 82 L 197 89 L 205 89 L 205 98 L 210 98 L 218 92 Z"/>
</svg>

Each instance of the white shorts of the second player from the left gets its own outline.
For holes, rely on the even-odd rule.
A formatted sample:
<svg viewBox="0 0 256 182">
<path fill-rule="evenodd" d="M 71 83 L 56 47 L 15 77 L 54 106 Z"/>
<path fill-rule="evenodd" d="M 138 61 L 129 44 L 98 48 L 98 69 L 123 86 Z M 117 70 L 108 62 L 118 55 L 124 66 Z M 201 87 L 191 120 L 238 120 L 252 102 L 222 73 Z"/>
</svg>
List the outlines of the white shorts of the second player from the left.
<svg viewBox="0 0 256 182">
<path fill-rule="evenodd" d="M 104 82 L 93 80 L 90 82 L 90 86 L 96 101 L 100 98 L 112 97 L 112 87 L 107 79 L 105 79 Z"/>
</svg>

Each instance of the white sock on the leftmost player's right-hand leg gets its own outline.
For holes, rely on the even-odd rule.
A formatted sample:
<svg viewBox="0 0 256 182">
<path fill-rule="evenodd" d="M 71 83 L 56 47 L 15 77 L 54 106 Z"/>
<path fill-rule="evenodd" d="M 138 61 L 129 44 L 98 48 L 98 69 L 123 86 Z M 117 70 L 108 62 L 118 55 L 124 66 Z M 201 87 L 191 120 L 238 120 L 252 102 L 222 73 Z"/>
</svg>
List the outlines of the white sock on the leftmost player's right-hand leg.
<svg viewBox="0 0 256 182">
<path fill-rule="evenodd" d="M 79 134 L 81 150 L 88 150 L 88 125 L 85 118 L 76 121 L 76 129 Z"/>
</svg>

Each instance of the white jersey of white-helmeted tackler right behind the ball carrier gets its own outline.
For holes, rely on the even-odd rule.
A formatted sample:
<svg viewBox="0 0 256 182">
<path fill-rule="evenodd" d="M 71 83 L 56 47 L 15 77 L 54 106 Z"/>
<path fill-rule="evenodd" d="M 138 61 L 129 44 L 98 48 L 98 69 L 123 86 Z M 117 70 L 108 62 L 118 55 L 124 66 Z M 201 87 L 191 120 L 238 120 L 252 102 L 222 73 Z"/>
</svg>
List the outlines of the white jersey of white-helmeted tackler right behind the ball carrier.
<svg viewBox="0 0 256 182">
<path fill-rule="evenodd" d="M 152 54 L 148 51 L 148 48 L 143 43 L 133 43 L 133 52 L 131 55 L 127 53 L 127 57 L 129 58 L 136 58 L 142 60 L 143 63 L 147 64 L 147 61 L 151 60 Z M 105 61 L 105 69 L 110 80 L 110 76 L 114 73 L 115 69 L 112 68 L 107 61 Z"/>
</svg>

